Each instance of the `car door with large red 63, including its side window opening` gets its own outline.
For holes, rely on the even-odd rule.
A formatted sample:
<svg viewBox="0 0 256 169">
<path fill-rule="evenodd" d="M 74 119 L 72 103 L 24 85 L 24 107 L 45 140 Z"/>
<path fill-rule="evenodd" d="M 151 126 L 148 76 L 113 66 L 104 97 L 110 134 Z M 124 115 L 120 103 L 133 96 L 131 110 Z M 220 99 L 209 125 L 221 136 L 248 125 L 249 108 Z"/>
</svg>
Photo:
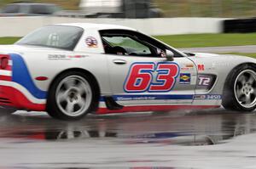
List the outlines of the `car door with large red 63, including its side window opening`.
<svg viewBox="0 0 256 169">
<path fill-rule="evenodd" d="M 197 76 L 194 63 L 180 54 L 167 60 L 163 47 L 156 47 L 160 52 L 154 54 L 152 47 L 158 44 L 143 37 L 133 31 L 102 33 L 113 99 L 122 105 L 191 104 Z M 115 51 L 106 47 L 109 44 Z"/>
</svg>

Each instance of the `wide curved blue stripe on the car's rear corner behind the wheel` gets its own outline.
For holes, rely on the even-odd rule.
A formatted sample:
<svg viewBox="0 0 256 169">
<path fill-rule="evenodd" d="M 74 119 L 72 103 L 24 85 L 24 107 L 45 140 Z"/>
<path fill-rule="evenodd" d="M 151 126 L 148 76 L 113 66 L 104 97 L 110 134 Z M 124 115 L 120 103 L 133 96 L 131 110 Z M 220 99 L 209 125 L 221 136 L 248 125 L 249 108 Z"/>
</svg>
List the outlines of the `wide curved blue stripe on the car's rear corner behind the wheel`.
<svg viewBox="0 0 256 169">
<path fill-rule="evenodd" d="M 26 89 L 32 93 L 32 95 L 37 99 L 46 99 L 47 93 L 40 90 L 32 81 L 32 76 L 27 70 L 26 63 L 24 59 L 19 54 L 10 54 L 13 60 L 13 82 L 19 83 L 21 86 L 26 87 Z M 35 63 L 36 64 L 36 63 Z M 36 65 L 35 65 L 36 66 Z"/>
</svg>

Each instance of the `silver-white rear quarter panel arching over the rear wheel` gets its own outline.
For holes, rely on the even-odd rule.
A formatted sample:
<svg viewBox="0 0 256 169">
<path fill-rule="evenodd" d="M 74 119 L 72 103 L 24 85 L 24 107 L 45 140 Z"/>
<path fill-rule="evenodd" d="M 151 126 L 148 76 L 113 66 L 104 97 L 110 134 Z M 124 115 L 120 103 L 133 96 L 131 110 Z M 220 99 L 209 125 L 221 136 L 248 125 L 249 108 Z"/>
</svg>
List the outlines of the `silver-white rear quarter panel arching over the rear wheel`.
<svg viewBox="0 0 256 169">
<path fill-rule="evenodd" d="M 107 59 L 103 54 L 84 54 L 68 51 L 24 52 L 20 54 L 36 86 L 48 91 L 49 85 L 62 71 L 79 68 L 90 71 L 96 77 L 102 93 L 110 93 Z M 37 81 L 37 76 L 48 77 L 47 81 Z"/>
</svg>

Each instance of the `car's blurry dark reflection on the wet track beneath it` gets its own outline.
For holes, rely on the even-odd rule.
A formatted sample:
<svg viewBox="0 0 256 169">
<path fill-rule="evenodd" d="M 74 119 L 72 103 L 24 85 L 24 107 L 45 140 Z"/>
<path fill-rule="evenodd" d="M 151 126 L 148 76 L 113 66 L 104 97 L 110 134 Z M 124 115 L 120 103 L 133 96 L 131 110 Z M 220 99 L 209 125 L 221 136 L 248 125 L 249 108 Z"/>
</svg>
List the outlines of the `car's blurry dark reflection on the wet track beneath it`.
<svg viewBox="0 0 256 169">
<path fill-rule="evenodd" d="M 107 115 L 81 121 L 56 121 L 46 115 L 0 117 L 0 138 L 29 141 L 108 139 L 123 144 L 221 144 L 255 131 L 254 114 L 224 110 L 162 114 Z"/>
</svg>

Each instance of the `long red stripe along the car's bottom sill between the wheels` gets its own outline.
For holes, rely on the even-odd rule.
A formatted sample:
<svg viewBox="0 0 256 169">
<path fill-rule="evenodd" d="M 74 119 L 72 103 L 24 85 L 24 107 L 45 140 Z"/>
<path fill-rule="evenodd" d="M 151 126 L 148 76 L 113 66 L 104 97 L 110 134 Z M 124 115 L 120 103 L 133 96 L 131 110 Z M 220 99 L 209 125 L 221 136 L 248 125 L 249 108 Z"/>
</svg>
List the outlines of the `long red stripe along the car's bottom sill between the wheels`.
<svg viewBox="0 0 256 169">
<path fill-rule="evenodd" d="M 201 110 L 219 108 L 220 105 L 141 105 L 127 106 L 121 110 L 108 110 L 107 108 L 99 108 L 96 114 L 124 113 L 135 111 L 165 111 L 165 110 Z"/>
</svg>

